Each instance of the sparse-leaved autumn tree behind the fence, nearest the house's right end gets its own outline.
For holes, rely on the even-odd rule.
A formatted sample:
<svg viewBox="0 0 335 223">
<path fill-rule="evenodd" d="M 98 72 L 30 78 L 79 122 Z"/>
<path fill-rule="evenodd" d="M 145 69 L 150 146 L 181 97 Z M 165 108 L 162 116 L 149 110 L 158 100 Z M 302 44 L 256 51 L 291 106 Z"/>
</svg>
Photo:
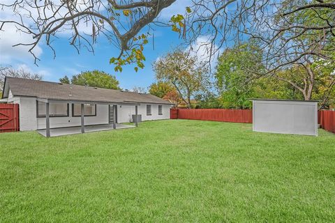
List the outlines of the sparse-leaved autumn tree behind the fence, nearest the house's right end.
<svg viewBox="0 0 335 223">
<path fill-rule="evenodd" d="M 191 108 L 191 98 L 195 93 L 206 89 L 209 83 L 208 69 L 197 56 L 177 49 L 169 52 L 154 63 L 156 79 L 172 84 L 180 98 Z"/>
</svg>

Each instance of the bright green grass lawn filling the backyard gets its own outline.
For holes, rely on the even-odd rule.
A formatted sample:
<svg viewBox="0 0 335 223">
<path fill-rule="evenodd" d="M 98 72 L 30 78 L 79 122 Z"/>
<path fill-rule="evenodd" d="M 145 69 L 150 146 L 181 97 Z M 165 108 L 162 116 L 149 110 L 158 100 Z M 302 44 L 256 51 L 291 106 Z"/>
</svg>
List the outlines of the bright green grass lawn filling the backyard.
<svg viewBox="0 0 335 223">
<path fill-rule="evenodd" d="M 333 222 L 335 134 L 168 120 L 0 134 L 0 222 Z"/>
</svg>

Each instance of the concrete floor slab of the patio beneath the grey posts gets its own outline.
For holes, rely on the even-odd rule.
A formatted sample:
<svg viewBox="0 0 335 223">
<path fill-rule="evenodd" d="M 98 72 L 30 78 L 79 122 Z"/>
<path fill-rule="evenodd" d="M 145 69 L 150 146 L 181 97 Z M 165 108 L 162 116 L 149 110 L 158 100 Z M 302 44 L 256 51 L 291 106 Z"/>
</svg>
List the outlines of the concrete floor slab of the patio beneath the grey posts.
<svg viewBox="0 0 335 223">
<path fill-rule="evenodd" d="M 134 125 L 123 125 L 117 124 L 117 130 L 124 129 L 124 128 L 135 128 Z M 86 132 L 99 132 L 99 131 L 106 131 L 106 130 L 114 130 L 112 124 L 105 124 L 105 125 L 87 125 L 85 126 L 85 133 Z M 38 133 L 42 134 L 46 137 L 45 130 L 37 130 Z M 52 128 L 50 129 L 50 137 L 59 137 L 68 134 L 80 134 L 81 127 L 66 127 L 66 128 Z"/>
</svg>

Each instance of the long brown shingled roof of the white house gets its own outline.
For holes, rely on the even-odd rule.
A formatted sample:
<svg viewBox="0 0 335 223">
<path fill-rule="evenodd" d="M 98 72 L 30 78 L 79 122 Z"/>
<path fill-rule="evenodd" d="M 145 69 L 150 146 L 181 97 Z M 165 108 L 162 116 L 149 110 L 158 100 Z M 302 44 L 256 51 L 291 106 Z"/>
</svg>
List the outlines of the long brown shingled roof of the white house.
<svg viewBox="0 0 335 223">
<path fill-rule="evenodd" d="M 56 82 L 45 82 L 16 77 L 6 77 L 5 85 L 3 86 L 3 98 L 8 98 L 9 89 L 14 97 L 26 96 L 48 100 L 70 100 L 85 102 L 143 102 L 171 104 L 167 100 L 163 100 L 147 93 L 101 89 L 91 86 L 61 84 Z"/>
</svg>

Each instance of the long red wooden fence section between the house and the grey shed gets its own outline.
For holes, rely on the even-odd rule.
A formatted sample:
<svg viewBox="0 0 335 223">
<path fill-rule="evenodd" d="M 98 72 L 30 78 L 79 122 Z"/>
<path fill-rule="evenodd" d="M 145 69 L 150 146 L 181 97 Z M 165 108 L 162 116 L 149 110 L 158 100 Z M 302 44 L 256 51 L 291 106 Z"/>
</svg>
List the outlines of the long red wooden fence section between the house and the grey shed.
<svg viewBox="0 0 335 223">
<path fill-rule="evenodd" d="M 170 118 L 253 123 L 253 111 L 242 109 L 171 109 Z"/>
</svg>

